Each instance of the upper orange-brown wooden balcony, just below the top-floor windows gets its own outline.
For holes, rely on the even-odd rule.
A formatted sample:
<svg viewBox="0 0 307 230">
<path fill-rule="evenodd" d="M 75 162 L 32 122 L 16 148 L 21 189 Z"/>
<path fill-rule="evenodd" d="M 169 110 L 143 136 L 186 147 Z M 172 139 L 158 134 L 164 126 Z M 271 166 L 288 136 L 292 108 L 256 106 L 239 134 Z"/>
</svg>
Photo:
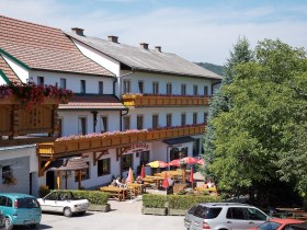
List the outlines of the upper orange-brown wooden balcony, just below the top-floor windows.
<svg viewBox="0 0 307 230">
<path fill-rule="evenodd" d="M 195 106 L 207 105 L 208 96 L 124 94 L 125 106 Z"/>
</svg>

